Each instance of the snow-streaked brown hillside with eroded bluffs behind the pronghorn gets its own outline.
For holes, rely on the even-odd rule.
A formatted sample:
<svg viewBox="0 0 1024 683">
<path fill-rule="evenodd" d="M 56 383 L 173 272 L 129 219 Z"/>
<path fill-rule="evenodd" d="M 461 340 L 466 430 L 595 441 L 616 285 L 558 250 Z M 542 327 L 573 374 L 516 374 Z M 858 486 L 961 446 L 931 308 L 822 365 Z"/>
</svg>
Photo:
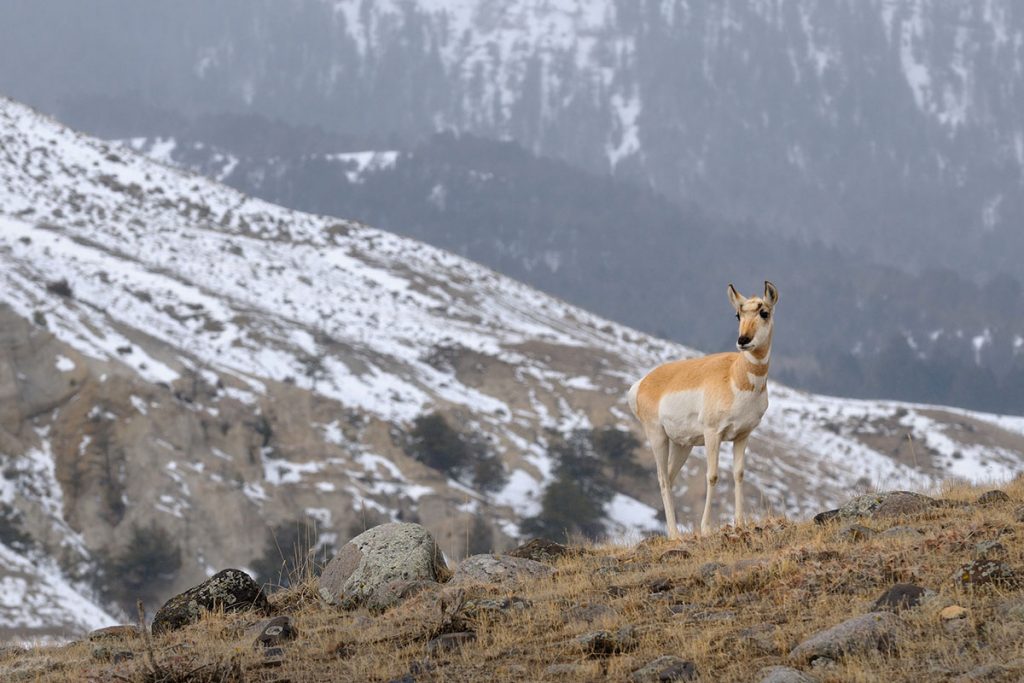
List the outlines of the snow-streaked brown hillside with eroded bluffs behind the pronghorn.
<svg viewBox="0 0 1024 683">
<path fill-rule="evenodd" d="M 632 428 L 630 383 L 694 353 L 6 99 L 0 148 L 0 460 L 46 484 L 15 477 L 23 487 L 0 495 L 33 552 L 79 579 L 132 528 L 171 533 L 183 587 L 260 556 L 269 525 L 311 518 L 339 540 L 368 511 L 419 518 L 459 556 L 473 516 L 515 535 L 538 510 L 547 430 Z M 1024 454 L 1021 419 L 777 385 L 771 400 L 749 459 L 755 510 L 805 515 L 870 485 L 1008 477 Z M 489 440 L 503 490 L 482 496 L 404 455 L 401 431 L 436 409 Z M 679 492 L 687 521 L 697 461 Z M 656 528 L 657 507 L 653 477 L 627 484 L 610 528 Z M 32 612 L 46 590 L 5 596 Z"/>
</svg>

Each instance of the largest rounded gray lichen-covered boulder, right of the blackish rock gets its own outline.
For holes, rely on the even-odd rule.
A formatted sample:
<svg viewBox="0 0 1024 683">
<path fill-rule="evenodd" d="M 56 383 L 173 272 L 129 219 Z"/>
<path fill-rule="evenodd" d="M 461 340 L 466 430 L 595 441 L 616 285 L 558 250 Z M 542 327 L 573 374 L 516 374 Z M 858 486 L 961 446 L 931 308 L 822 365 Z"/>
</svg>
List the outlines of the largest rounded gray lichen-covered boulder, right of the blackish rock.
<svg viewBox="0 0 1024 683">
<path fill-rule="evenodd" d="M 380 611 L 450 571 L 434 538 L 420 524 L 392 522 L 349 541 L 319 578 L 319 594 L 345 609 Z"/>
</svg>

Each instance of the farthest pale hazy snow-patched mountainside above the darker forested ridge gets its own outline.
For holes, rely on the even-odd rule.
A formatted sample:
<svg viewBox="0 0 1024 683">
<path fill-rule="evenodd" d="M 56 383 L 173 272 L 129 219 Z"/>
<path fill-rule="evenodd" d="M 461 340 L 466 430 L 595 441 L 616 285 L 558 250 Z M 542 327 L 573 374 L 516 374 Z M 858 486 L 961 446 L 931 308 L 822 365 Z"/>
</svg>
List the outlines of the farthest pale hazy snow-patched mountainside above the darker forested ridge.
<svg viewBox="0 0 1024 683">
<path fill-rule="evenodd" d="M 0 90 L 116 137 L 152 133 L 130 130 L 145 106 L 509 137 L 767 231 L 1024 274 L 1013 0 L 224 0 L 210 18 L 6 3 Z"/>
</svg>

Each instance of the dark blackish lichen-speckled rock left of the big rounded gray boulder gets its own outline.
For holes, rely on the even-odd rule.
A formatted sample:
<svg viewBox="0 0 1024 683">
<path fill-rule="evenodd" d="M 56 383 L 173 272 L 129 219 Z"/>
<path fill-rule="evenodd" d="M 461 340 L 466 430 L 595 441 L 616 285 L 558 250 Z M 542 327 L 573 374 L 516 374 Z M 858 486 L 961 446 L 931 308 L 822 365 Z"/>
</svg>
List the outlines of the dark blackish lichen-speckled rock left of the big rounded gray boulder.
<svg viewBox="0 0 1024 683">
<path fill-rule="evenodd" d="M 252 577 L 241 569 L 224 569 L 165 602 L 153 618 L 153 633 L 175 631 L 198 622 L 204 611 L 218 609 L 225 612 L 253 609 L 267 614 L 270 604 Z"/>
</svg>

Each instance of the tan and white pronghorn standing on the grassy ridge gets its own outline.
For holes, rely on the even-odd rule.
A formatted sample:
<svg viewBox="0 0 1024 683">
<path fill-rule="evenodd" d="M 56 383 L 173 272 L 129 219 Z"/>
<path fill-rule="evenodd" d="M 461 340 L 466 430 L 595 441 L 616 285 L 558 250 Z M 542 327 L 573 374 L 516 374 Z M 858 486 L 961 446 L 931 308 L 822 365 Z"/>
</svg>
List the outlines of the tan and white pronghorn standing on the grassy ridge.
<svg viewBox="0 0 1024 683">
<path fill-rule="evenodd" d="M 764 298 L 748 299 L 729 285 L 729 303 L 739 321 L 737 352 L 658 366 L 630 387 L 630 408 L 640 420 L 657 465 L 670 539 L 680 538 L 672 484 L 694 445 L 708 454 L 708 494 L 700 532 L 711 530 L 711 497 L 718 483 L 718 451 L 732 441 L 735 522 L 743 517 L 743 457 L 746 439 L 768 408 L 768 361 L 778 290 L 765 282 Z"/>
</svg>

